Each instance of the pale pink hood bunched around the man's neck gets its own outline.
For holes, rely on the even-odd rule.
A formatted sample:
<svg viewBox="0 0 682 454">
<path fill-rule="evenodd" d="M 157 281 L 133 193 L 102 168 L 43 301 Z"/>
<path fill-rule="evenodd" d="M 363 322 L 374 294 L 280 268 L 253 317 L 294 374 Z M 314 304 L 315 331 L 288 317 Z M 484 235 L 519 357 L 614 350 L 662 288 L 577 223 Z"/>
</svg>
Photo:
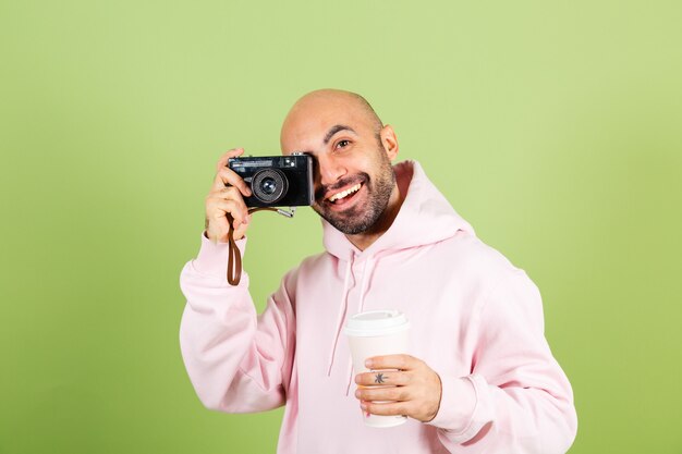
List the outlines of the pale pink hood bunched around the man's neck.
<svg viewBox="0 0 682 454">
<path fill-rule="evenodd" d="M 450 238 L 459 231 L 474 234 L 472 226 L 450 206 L 428 180 L 417 161 L 393 165 L 402 187 L 409 182 L 407 194 L 391 226 L 365 250 L 353 245 L 345 234 L 322 219 L 324 244 L 327 251 L 348 261 L 363 256 L 383 255 L 390 250 L 425 246 Z"/>
</svg>

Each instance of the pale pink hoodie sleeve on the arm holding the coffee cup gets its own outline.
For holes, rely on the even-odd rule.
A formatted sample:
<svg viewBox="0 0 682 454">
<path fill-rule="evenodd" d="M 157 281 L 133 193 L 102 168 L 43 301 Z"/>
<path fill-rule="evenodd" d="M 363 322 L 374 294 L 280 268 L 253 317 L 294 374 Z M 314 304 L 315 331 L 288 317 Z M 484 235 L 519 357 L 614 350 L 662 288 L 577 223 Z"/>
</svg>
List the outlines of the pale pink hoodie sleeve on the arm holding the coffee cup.
<svg viewBox="0 0 682 454">
<path fill-rule="evenodd" d="M 544 334 L 539 292 L 507 269 L 472 320 L 473 373 L 441 375 L 438 437 L 451 453 L 565 453 L 575 438 L 573 393 Z"/>
</svg>

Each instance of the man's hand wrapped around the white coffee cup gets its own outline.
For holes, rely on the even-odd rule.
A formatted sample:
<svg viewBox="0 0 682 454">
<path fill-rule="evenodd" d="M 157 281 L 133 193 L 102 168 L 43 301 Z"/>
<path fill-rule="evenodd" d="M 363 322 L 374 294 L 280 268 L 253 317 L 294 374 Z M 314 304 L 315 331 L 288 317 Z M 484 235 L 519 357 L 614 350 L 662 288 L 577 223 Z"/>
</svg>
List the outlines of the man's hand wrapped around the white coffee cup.
<svg viewBox="0 0 682 454">
<path fill-rule="evenodd" d="M 364 412 L 406 415 L 423 422 L 436 417 L 440 377 L 426 363 L 410 355 L 387 355 L 367 359 L 365 367 L 373 371 L 355 376 L 355 397 Z"/>
</svg>

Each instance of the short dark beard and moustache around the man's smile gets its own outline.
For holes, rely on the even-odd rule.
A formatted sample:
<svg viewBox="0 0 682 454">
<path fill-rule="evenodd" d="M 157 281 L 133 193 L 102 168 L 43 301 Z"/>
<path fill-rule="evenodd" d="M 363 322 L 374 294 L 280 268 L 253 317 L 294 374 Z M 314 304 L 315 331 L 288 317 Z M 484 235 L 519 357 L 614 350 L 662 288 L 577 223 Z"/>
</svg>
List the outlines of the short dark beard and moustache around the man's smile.
<svg viewBox="0 0 682 454">
<path fill-rule="evenodd" d="M 395 174 L 393 173 L 391 162 L 383 156 L 381 170 L 376 181 L 370 180 L 369 175 L 363 172 L 343 179 L 334 184 L 334 186 L 344 187 L 356 183 L 363 183 L 367 189 L 367 194 L 369 195 L 367 206 L 355 206 L 343 212 L 327 210 L 324 201 L 318 201 L 313 206 L 319 216 L 338 231 L 346 235 L 357 235 L 358 233 L 367 232 L 376 224 L 381 214 L 383 214 L 388 201 L 391 198 L 393 187 L 395 186 Z M 333 189 L 333 187 L 331 187 L 331 189 Z"/>
</svg>

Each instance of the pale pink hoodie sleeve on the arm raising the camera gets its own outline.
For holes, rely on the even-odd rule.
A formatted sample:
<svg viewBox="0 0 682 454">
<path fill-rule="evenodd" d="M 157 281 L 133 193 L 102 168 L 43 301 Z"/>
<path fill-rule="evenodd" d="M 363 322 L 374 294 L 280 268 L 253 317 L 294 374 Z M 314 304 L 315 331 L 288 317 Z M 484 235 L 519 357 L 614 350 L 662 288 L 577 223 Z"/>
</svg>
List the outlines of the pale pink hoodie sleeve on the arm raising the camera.
<svg viewBox="0 0 682 454">
<path fill-rule="evenodd" d="M 238 242 L 243 253 L 246 240 Z M 228 245 L 202 235 L 195 260 L 185 265 L 180 285 L 187 299 L 180 346 L 202 403 L 229 413 L 260 412 L 285 402 L 293 359 L 294 316 L 284 281 L 256 315 L 248 275 L 227 282 Z"/>
</svg>

